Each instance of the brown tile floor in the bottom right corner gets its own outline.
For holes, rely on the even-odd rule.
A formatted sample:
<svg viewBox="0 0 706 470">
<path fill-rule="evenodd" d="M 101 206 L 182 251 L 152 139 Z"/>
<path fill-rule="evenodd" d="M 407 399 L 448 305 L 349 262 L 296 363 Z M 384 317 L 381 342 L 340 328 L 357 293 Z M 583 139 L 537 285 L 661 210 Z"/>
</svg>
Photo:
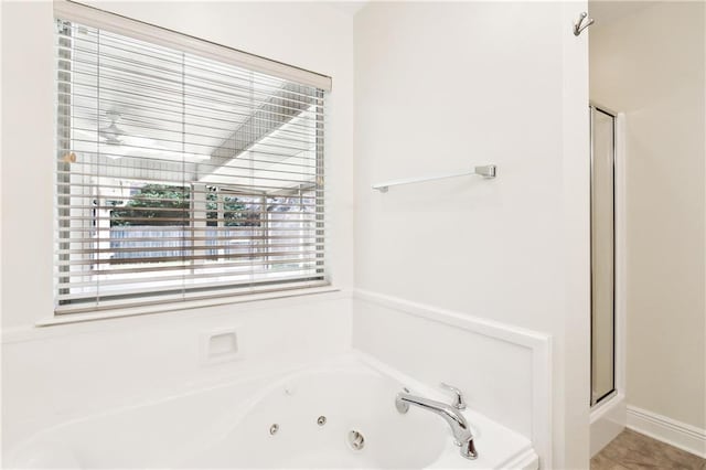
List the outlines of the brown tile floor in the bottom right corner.
<svg viewBox="0 0 706 470">
<path fill-rule="evenodd" d="M 625 429 L 591 459 L 591 470 L 706 470 L 706 459 Z"/>
</svg>

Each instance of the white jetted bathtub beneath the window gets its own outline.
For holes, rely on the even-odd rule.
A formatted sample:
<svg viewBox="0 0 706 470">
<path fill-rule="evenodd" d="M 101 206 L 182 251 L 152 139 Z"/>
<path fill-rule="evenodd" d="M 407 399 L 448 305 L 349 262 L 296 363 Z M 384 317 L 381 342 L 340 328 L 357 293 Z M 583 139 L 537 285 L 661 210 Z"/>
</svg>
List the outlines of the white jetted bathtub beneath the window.
<svg viewBox="0 0 706 470">
<path fill-rule="evenodd" d="M 532 442 L 472 409 L 477 460 L 395 396 L 449 400 L 361 353 L 74 419 L 18 446 L 13 468 L 536 469 Z M 472 408 L 472 400 L 469 408 Z"/>
</svg>

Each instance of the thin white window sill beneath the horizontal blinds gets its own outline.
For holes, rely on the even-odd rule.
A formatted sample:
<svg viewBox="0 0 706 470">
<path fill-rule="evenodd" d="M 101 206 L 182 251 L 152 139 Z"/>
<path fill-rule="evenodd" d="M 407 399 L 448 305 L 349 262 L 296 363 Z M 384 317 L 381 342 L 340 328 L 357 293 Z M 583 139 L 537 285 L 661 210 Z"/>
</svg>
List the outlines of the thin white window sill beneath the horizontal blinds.
<svg viewBox="0 0 706 470">
<path fill-rule="evenodd" d="M 333 286 L 312 287 L 307 289 L 282 290 L 278 292 L 253 293 L 247 296 L 222 297 L 207 300 L 188 300 L 168 302 L 153 306 L 111 309 L 86 313 L 55 314 L 46 319 L 38 320 L 35 327 L 52 327 L 58 324 L 79 323 L 86 321 L 108 320 L 114 318 L 136 317 L 151 313 L 164 313 L 182 310 L 191 310 L 206 307 L 216 307 L 231 303 L 259 302 L 263 300 L 285 299 L 291 297 L 304 297 L 328 292 L 338 292 L 341 289 Z"/>
</svg>

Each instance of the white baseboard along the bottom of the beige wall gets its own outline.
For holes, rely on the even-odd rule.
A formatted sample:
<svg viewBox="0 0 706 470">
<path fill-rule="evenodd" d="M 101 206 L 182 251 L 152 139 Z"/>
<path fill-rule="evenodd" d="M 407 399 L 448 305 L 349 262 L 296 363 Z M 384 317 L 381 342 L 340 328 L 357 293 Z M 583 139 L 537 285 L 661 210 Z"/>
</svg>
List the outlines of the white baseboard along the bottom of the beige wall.
<svg viewBox="0 0 706 470">
<path fill-rule="evenodd" d="M 628 406 L 628 428 L 706 458 L 706 429 L 635 406 Z"/>
</svg>

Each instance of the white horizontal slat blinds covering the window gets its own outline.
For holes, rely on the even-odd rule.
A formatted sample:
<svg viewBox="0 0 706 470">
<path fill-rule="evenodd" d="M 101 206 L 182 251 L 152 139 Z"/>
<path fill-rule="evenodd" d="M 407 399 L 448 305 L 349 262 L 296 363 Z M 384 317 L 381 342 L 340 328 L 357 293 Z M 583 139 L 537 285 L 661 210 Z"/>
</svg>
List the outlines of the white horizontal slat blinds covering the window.
<svg viewBox="0 0 706 470">
<path fill-rule="evenodd" d="M 56 26 L 57 313 L 325 284 L 321 88 Z"/>
</svg>

